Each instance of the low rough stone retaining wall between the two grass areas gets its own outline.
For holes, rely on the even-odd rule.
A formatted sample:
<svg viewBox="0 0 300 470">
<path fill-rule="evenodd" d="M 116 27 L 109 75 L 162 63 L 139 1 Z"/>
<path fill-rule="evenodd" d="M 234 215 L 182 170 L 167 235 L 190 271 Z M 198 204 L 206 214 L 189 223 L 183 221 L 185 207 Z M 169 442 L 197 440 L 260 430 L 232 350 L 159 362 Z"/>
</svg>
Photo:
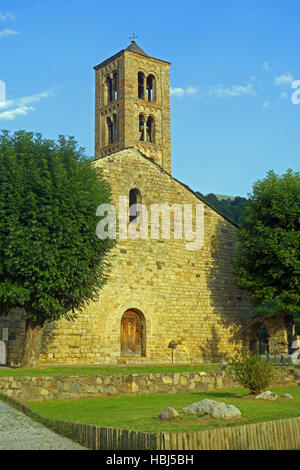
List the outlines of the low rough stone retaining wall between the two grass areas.
<svg viewBox="0 0 300 470">
<path fill-rule="evenodd" d="M 300 384 L 300 370 L 277 369 L 272 386 Z M 0 393 L 15 400 L 45 401 L 101 395 L 206 392 L 239 388 L 229 371 L 130 375 L 0 377 Z"/>
</svg>

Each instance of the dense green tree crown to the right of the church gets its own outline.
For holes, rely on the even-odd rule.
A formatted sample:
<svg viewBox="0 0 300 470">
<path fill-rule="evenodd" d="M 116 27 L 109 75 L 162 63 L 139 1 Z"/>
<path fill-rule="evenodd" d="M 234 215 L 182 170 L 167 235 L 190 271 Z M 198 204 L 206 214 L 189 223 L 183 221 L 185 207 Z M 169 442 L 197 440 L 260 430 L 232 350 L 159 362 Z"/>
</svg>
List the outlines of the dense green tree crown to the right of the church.
<svg viewBox="0 0 300 470">
<path fill-rule="evenodd" d="M 261 314 L 300 316 L 299 226 L 300 174 L 270 171 L 253 186 L 235 259 L 238 283 L 261 306 Z"/>
</svg>

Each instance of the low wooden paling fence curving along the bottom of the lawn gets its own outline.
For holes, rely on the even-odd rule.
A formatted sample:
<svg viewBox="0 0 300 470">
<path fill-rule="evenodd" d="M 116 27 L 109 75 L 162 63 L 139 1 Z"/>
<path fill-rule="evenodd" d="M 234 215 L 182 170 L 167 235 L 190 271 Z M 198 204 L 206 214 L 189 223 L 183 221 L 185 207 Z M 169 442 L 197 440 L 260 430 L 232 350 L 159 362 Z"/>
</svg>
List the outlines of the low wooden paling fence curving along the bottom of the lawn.
<svg viewBox="0 0 300 470">
<path fill-rule="evenodd" d="M 300 450 L 300 417 L 186 433 L 145 433 L 41 416 L 0 396 L 50 429 L 94 450 Z"/>
</svg>

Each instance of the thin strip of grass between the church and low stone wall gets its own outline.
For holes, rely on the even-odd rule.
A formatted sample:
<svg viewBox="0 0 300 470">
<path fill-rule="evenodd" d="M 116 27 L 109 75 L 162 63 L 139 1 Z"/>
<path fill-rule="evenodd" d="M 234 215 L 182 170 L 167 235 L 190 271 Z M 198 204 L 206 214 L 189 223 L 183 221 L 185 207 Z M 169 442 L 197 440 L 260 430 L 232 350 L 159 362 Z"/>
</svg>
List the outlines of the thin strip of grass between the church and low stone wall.
<svg viewBox="0 0 300 470">
<path fill-rule="evenodd" d="M 170 365 L 170 366 L 45 366 L 35 369 L 0 367 L 0 377 L 42 377 L 65 375 L 119 375 L 119 374 L 160 374 L 165 372 L 193 372 L 217 370 L 213 365 Z"/>
</svg>

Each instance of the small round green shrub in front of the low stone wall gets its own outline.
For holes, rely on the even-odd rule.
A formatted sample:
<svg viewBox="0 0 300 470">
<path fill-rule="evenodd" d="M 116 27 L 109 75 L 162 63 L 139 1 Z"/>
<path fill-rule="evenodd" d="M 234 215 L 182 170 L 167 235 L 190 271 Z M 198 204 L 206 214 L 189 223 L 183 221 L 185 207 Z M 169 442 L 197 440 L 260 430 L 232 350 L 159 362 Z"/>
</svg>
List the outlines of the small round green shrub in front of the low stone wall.
<svg viewBox="0 0 300 470">
<path fill-rule="evenodd" d="M 230 365 L 234 381 L 248 388 L 253 395 L 263 392 L 273 379 L 273 364 L 260 360 L 259 354 L 248 353 L 244 360 L 235 355 Z"/>
</svg>

